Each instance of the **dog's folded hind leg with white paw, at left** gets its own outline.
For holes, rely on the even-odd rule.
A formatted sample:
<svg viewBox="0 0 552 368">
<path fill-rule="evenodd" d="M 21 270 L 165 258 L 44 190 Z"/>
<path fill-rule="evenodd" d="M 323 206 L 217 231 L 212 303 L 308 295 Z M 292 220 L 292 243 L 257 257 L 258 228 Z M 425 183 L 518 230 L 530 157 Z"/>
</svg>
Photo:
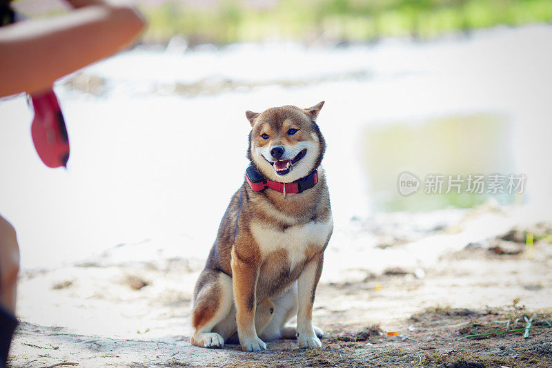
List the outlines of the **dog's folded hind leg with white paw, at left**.
<svg viewBox="0 0 552 368">
<path fill-rule="evenodd" d="M 194 292 L 190 342 L 198 347 L 222 347 L 229 336 L 213 332 L 213 327 L 228 318 L 233 305 L 232 278 L 225 273 L 204 269 Z"/>
</svg>

